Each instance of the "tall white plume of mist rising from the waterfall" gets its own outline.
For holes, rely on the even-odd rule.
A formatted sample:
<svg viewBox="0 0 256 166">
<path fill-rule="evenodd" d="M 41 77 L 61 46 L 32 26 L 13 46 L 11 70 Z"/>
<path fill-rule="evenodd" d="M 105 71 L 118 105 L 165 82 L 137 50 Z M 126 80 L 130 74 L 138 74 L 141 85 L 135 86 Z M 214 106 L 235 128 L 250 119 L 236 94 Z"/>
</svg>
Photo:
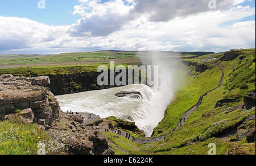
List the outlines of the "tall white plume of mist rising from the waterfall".
<svg viewBox="0 0 256 166">
<path fill-rule="evenodd" d="M 159 122 L 162 121 L 167 107 L 175 99 L 175 92 L 179 89 L 184 78 L 181 74 L 183 64 L 180 62 L 180 55 L 172 52 L 141 52 L 143 65 L 158 66 L 159 87 L 152 88 L 152 98 L 149 103 L 150 114 L 146 115 L 146 136 L 150 136 Z"/>
</svg>

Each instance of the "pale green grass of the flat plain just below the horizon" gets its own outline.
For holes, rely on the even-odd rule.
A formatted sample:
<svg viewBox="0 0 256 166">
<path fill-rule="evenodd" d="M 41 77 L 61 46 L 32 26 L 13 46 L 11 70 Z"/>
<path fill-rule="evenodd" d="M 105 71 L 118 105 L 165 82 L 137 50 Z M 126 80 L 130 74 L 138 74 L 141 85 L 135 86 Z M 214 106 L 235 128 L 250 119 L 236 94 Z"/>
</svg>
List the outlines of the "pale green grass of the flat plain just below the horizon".
<svg viewBox="0 0 256 166">
<path fill-rule="evenodd" d="M 96 61 L 96 60 L 115 60 L 115 59 L 134 59 L 147 57 L 148 52 L 123 52 L 123 51 L 98 51 L 98 52 L 74 52 L 61 53 L 58 55 L 0 55 L 0 65 L 34 65 L 40 63 L 80 63 L 82 61 Z M 207 52 L 158 52 L 163 56 L 201 56 Z"/>
</svg>

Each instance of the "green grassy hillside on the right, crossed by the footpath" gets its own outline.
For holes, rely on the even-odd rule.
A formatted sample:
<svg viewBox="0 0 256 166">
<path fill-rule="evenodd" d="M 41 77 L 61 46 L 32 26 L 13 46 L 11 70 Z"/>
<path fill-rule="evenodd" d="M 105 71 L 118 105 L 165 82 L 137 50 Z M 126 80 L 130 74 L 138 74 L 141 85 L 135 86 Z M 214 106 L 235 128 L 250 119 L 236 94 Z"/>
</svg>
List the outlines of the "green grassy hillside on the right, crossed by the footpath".
<svg viewBox="0 0 256 166">
<path fill-rule="evenodd" d="M 167 135 L 166 139 L 155 143 L 136 144 L 137 151 L 144 154 L 203 154 L 209 151 L 208 144 L 216 144 L 217 154 L 244 153 L 255 155 L 255 142 L 246 139 L 250 128 L 255 131 L 255 107 L 245 110 L 239 107 L 243 103 L 243 96 L 255 90 L 255 49 L 241 50 L 240 55 L 229 61 L 218 59 L 211 64 L 218 64 L 224 71 L 222 86 L 204 97 L 203 103 L 193 112 L 183 126 Z M 205 58 L 205 57 L 204 57 Z M 200 60 L 200 59 L 199 59 Z M 195 61 L 195 59 L 192 59 Z M 191 106 L 195 105 L 199 97 L 220 83 L 221 71 L 210 68 L 203 73 L 191 72 L 187 74 L 187 81 L 177 93 L 176 100 L 168 107 L 162 122 L 154 130 L 153 137 L 168 134 L 179 122 L 179 118 Z M 224 103 L 216 108 L 221 99 L 229 98 L 232 102 Z M 115 149 L 118 149 L 118 138 L 112 137 Z M 130 147 L 120 147 L 129 153 Z M 119 151 L 118 151 L 119 153 Z"/>
</svg>

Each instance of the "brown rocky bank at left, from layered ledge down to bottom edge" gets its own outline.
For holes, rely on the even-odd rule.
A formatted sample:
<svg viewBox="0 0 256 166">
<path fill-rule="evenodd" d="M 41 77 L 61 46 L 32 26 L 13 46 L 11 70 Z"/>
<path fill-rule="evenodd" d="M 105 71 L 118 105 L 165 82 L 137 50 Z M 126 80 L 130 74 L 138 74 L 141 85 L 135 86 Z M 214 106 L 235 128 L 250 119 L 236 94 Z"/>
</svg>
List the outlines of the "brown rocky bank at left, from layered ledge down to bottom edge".
<svg viewBox="0 0 256 166">
<path fill-rule="evenodd" d="M 48 86 L 49 77 L 0 76 L 0 121 L 13 117 L 36 123 L 57 141 L 64 144 L 59 153 L 71 155 L 113 155 L 108 139 L 100 133 L 103 119 L 96 115 L 66 114 Z"/>
</svg>

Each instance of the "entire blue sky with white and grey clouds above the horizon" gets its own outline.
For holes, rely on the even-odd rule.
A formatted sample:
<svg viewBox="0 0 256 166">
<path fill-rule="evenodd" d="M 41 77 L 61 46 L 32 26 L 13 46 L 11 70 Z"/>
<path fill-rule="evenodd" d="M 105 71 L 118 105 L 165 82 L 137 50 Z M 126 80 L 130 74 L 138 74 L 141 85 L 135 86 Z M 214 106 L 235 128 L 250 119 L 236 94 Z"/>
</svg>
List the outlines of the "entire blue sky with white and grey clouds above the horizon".
<svg viewBox="0 0 256 166">
<path fill-rule="evenodd" d="M 233 48 L 255 48 L 255 0 L 0 0 L 0 54 Z"/>
</svg>

